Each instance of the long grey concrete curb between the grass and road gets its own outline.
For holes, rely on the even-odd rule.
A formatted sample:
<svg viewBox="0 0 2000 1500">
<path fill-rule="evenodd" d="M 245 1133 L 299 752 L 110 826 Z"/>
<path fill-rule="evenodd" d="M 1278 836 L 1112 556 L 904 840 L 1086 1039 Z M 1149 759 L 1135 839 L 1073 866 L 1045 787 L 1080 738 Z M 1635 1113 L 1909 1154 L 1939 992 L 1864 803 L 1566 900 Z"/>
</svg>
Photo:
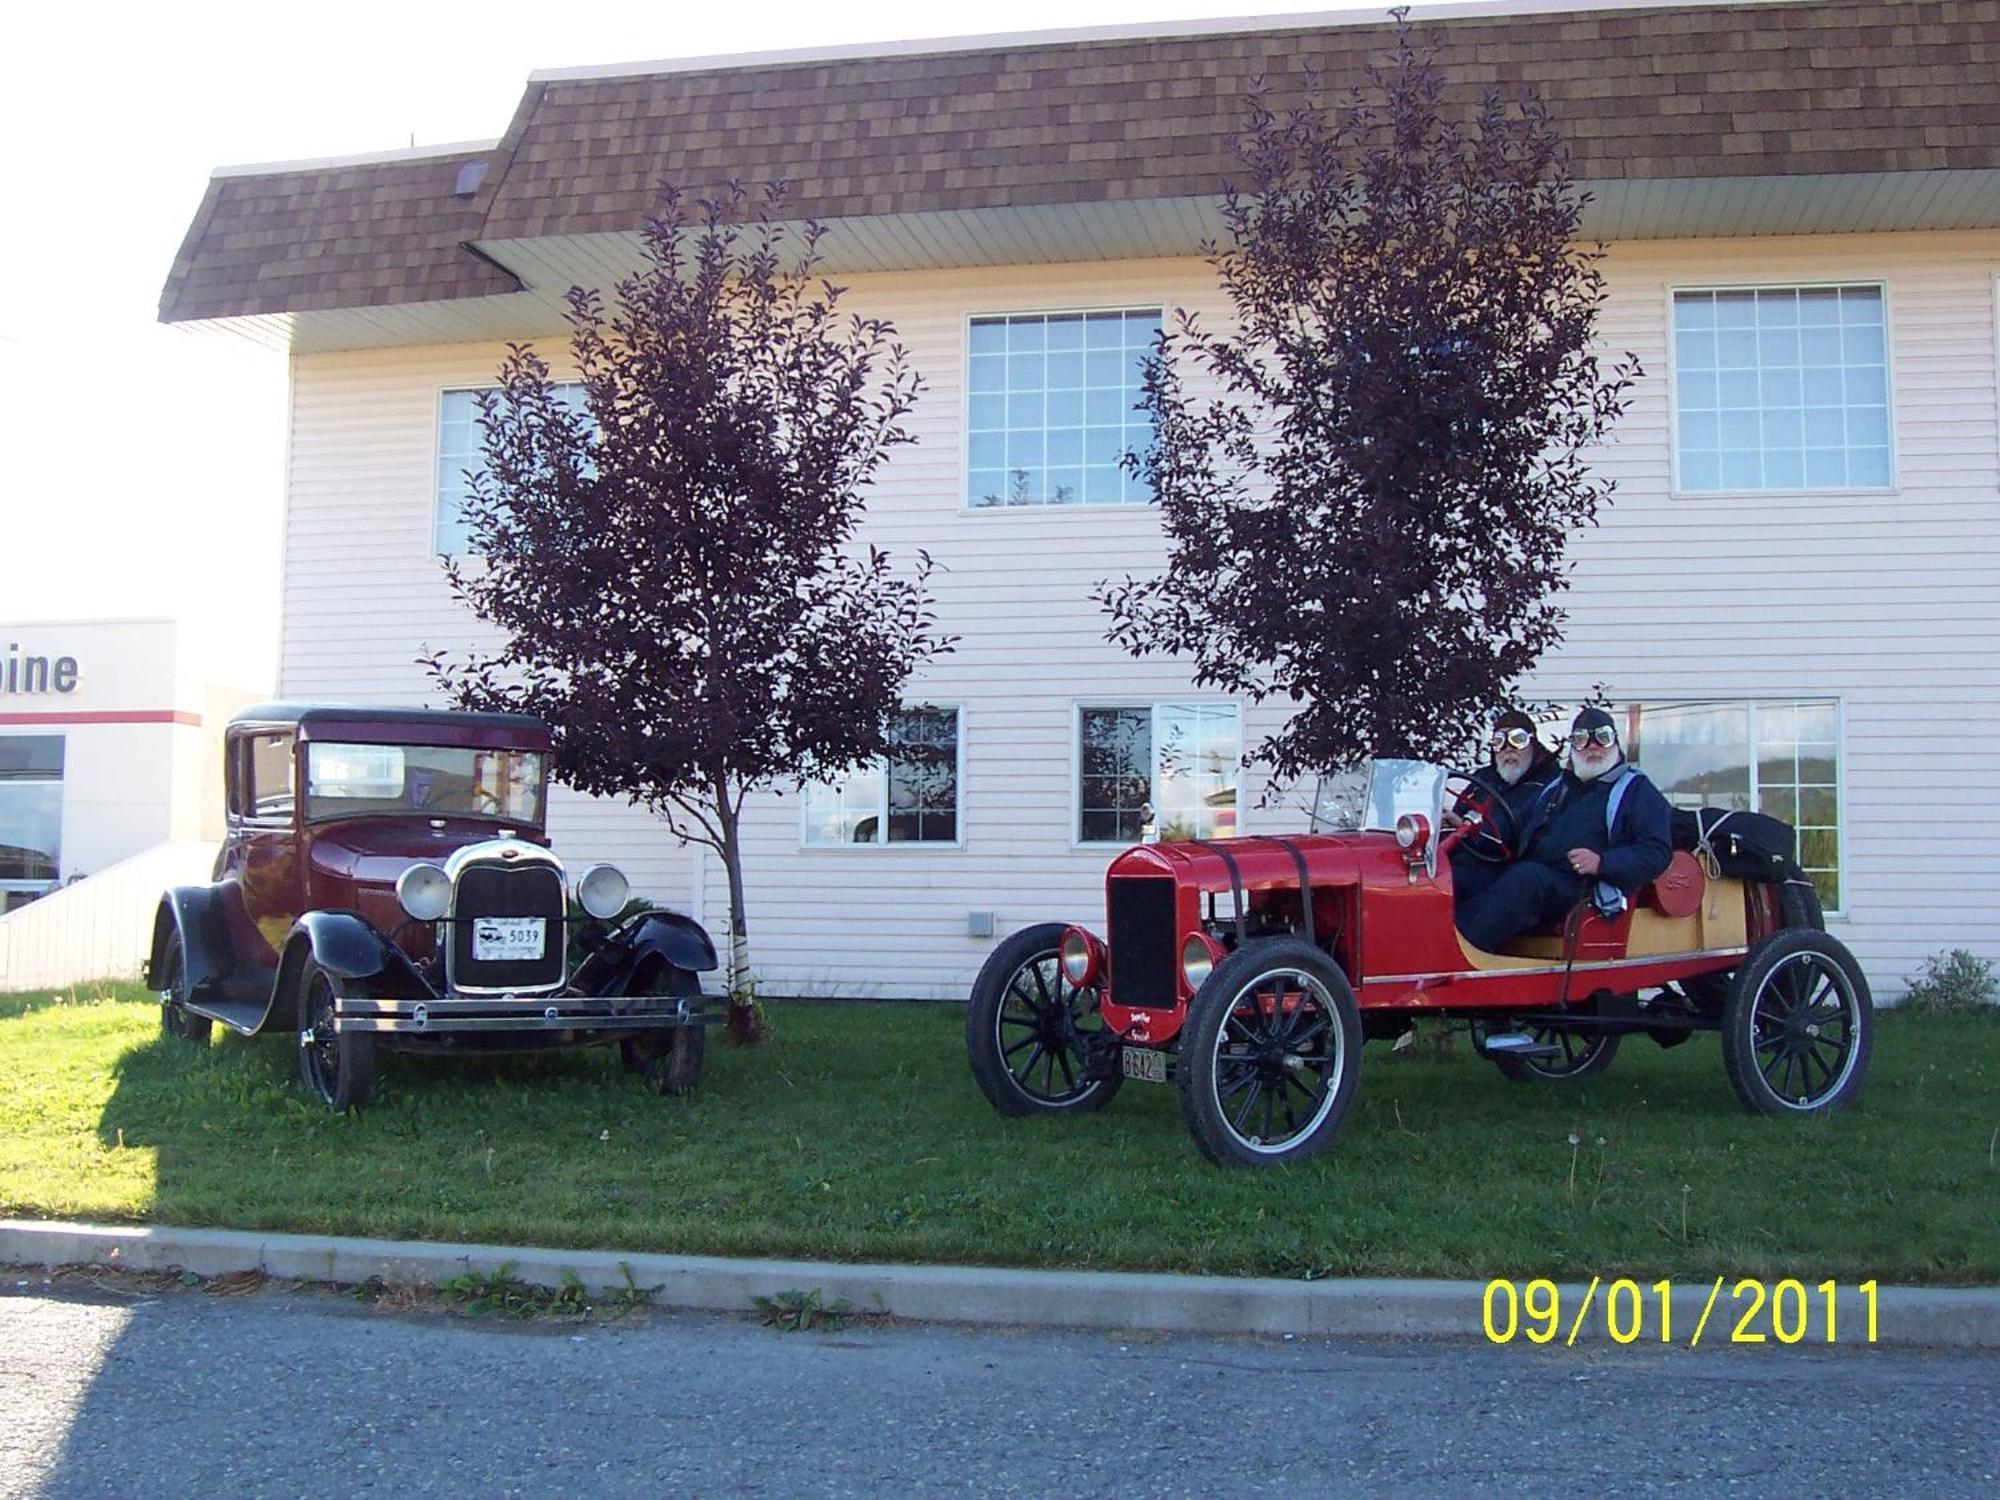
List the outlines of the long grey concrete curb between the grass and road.
<svg viewBox="0 0 2000 1500">
<path fill-rule="evenodd" d="M 1486 1282 L 1326 1280 L 1170 1276 L 1134 1272 L 1002 1270 L 984 1266 L 848 1266 L 818 1260 L 730 1260 L 722 1256 L 620 1254 L 616 1250 L 544 1250 L 500 1244 L 436 1244 L 426 1240 L 356 1240 L 318 1234 L 256 1234 L 244 1230 L 182 1230 L 168 1226 L 66 1224 L 0 1220 L 0 1264 L 96 1264 L 124 1270 L 186 1270 L 198 1276 L 260 1270 L 266 1276 L 316 1282 L 432 1286 L 468 1270 L 494 1272 L 512 1264 L 514 1276 L 536 1286 L 562 1286 L 574 1274 L 592 1292 L 626 1286 L 660 1288 L 666 1308 L 746 1312 L 752 1296 L 808 1292 L 826 1302 L 846 1298 L 858 1312 L 968 1324 L 1026 1324 L 1044 1328 L 1110 1328 L 1176 1334 L 1306 1334 L 1306 1336 L 1416 1336 L 1482 1338 Z M 1724 1278 L 1704 1342 L 1724 1348 L 1744 1314 L 1748 1330 L 1770 1338 L 1770 1302 L 1752 1306 L 1752 1294 L 1732 1300 L 1734 1278 Z M 1660 1338 L 1660 1298 L 1640 1288 L 1644 1324 L 1640 1342 Z M 1606 1342 L 1608 1290 L 1562 1286 L 1564 1328 L 1576 1322 L 1576 1342 Z M 1588 1304 L 1586 1304 L 1588 1296 Z M 1622 1318 L 1632 1318 L 1630 1294 Z M 1674 1288 L 1674 1342 L 1686 1346 L 1702 1322 L 1710 1286 Z M 1862 1292 L 1842 1284 L 1836 1294 L 1842 1346 L 1862 1346 L 1868 1306 Z M 1806 1344 L 1826 1344 L 1824 1294 L 1806 1288 Z M 1796 1310 L 1788 1308 L 1788 1318 Z M 1494 1320 L 1506 1328 L 1506 1300 L 1496 1298 Z M 1522 1310 L 1514 1342 L 1532 1348 L 1528 1328 L 1542 1324 Z M 1884 1286 L 1876 1302 L 1876 1346 L 1900 1348 L 2000 1348 L 2000 1288 Z"/>
</svg>

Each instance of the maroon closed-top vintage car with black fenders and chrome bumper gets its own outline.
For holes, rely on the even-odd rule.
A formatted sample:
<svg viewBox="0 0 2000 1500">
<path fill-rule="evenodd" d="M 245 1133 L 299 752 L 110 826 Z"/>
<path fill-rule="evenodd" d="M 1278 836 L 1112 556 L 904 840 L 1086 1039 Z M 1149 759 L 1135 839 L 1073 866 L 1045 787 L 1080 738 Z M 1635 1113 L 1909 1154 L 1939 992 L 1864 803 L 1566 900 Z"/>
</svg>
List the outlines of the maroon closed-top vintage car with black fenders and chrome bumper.
<svg viewBox="0 0 2000 1500">
<path fill-rule="evenodd" d="M 548 726 L 516 714 L 240 712 L 214 882 L 168 890 L 154 918 L 162 1028 L 284 1032 L 336 1110 L 368 1100 L 378 1046 L 618 1042 L 654 1088 L 692 1088 L 714 944 L 686 916 L 626 912 L 608 864 L 570 880 L 544 832 L 548 754 Z"/>
</svg>

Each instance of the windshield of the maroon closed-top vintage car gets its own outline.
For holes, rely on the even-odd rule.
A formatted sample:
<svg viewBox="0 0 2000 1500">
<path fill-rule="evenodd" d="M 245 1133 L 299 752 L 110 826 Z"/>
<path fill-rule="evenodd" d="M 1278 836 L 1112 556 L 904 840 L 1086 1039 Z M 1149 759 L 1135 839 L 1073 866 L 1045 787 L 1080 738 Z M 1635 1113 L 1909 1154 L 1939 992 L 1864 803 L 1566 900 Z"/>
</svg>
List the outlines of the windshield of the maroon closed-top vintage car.
<svg viewBox="0 0 2000 1500">
<path fill-rule="evenodd" d="M 306 816 L 418 814 L 540 828 L 546 774 L 540 750 L 314 742 L 306 746 Z"/>
</svg>

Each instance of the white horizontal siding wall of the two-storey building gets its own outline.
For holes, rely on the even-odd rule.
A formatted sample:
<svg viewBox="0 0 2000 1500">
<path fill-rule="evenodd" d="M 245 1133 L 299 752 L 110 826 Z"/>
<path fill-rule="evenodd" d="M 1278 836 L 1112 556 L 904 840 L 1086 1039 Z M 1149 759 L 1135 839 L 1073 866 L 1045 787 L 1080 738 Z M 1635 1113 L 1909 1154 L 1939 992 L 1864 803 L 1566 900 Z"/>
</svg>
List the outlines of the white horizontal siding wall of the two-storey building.
<svg viewBox="0 0 2000 1500">
<path fill-rule="evenodd" d="M 1606 346 L 1646 364 L 1600 466 L 1620 482 L 1604 526 L 1576 540 L 1570 644 L 1532 690 L 1574 698 L 1838 696 L 1846 718 L 1848 916 L 1840 932 L 1878 988 L 1944 946 L 2000 958 L 2000 854 L 1956 834 L 1960 808 L 2000 780 L 2000 438 L 1994 268 L 2000 234 L 1824 236 L 1620 246 L 1608 266 Z M 1866 278 L 1888 282 L 1900 488 L 1892 496 L 1676 500 L 1668 494 L 1666 312 L 1672 284 Z M 1160 302 L 1220 314 L 1200 262 L 1124 262 L 858 276 L 854 312 L 896 322 L 928 380 L 870 500 L 868 540 L 924 546 L 940 626 L 962 636 L 912 698 L 962 704 L 964 846 L 804 850 L 796 796 L 748 810 L 750 938 L 770 992 L 962 994 L 998 932 L 1094 918 L 1102 850 L 1072 846 L 1070 722 L 1078 698 L 1186 696 L 1170 662 L 1132 662 L 1088 602 L 1108 574 L 1162 560 L 1148 508 L 962 506 L 964 318 L 980 312 Z M 556 354 L 556 348 L 546 348 Z M 430 558 L 438 392 L 492 378 L 498 346 L 294 360 L 286 696 L 422 702 L 424 646 L 474 626 Z M 1246 712 L 1254 742 L 1278 706 Z M 1244 830 L 1296 826 L 1256 806 Z M 564 796 L 558 848 L 618 858 L 634 886 L 674 898 L 694 872 L 644 816 Z M 1948 850 L 1948 852 L 1946 852 Z M 706 862 L 702 916 L 722 924 Z"/>
</svg>

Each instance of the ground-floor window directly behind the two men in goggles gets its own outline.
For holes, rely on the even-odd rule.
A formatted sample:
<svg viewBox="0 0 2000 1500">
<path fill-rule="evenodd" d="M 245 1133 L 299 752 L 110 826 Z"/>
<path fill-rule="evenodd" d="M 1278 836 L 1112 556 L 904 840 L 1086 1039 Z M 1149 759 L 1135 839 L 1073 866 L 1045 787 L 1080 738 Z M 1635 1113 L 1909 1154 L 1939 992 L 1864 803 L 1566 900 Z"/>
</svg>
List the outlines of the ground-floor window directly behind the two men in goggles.
<svg viewBox="0 0 2000 1500">
<path fill-rule="evenodd" d="M 1626 754 L 1676 808 L 1744 808 L 1798 830 L 1798 862 L 1842 906 L 1840 704 L 1832 698 L 1630 704 Z"/>
</svg>

